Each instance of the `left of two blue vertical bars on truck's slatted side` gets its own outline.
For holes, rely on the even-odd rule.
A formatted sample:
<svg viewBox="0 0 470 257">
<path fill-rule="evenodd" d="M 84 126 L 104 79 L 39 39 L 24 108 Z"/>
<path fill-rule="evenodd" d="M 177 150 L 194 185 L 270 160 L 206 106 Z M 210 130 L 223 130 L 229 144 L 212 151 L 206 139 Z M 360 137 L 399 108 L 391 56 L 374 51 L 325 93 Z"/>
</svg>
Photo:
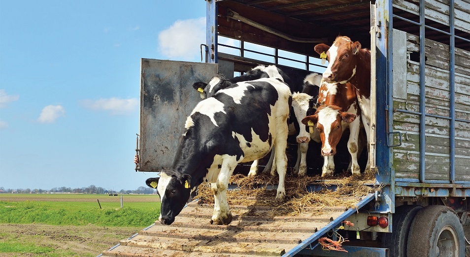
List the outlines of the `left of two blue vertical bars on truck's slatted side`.
<svg viewBox="0 0 470 257">
<path fill-rule="evenodd" d="M 425 50 L 425 3 L 419 0 L 419 180 L 425 183 L 426 177 L 426 50 Z"/>
</svg>

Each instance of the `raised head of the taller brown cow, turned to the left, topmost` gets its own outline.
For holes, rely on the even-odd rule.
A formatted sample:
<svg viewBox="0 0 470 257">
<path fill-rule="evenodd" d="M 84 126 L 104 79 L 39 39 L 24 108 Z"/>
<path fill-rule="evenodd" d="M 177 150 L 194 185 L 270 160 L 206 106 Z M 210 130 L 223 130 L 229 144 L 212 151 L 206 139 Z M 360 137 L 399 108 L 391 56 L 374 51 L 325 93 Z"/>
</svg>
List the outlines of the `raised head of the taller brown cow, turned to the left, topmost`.
<svg viewBox="0 0 470 257">
<path fill-rule="evenodd" d="M 344 84 L 356 74 L 357 53 L 361 49 L 358 41 L 352 42 L 347 36 L 338 36 L 331 47 L 318 44 L 314 49 L 318 54 L 327 54 L 328 67 L 323 72 L 326 82 Z"/>
</svg>

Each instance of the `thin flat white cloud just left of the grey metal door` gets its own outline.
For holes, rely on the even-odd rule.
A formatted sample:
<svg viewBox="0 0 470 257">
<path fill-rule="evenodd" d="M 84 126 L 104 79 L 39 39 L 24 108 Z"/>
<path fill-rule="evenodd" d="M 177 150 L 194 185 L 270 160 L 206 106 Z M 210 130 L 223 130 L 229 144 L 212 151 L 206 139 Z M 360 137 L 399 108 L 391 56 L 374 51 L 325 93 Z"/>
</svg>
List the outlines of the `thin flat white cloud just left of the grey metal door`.
<svg viewBox="0 0 470 257">
<path fill-rule="evenodd" d="M 134 111 L 139 104 L 137 98 L 119 99 L 116 97 L 101 98 L 98 100 L 82 100 L 81 104 L 93 110 L 110 111 L 111 114 L 125 114 Z"/>
</svg>

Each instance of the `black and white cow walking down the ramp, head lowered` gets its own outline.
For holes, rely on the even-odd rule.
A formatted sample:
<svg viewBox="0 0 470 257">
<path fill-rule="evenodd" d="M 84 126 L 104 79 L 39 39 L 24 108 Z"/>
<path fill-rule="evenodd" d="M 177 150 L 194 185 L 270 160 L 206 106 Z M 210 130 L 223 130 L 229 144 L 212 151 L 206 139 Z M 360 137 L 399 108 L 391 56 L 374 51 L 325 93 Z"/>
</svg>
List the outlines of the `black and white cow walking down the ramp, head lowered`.
<svg viewBox="0 0 470 257">
<path fill-rule="evenodd" d="M 146 181 L 161 197 L 160 222 L 173 223 L 190 194 L 210 184 L 215 198 L 211 224 L 230 224 L 230 176 L 238 163 L 258 160 L 271 148 L 279 174 L 276 201 L 283 201 L 291 102 L 289 87 L 274 78 L 232 84 L 199 102 L 186 119 L 173 167 Z"/>
</svg>

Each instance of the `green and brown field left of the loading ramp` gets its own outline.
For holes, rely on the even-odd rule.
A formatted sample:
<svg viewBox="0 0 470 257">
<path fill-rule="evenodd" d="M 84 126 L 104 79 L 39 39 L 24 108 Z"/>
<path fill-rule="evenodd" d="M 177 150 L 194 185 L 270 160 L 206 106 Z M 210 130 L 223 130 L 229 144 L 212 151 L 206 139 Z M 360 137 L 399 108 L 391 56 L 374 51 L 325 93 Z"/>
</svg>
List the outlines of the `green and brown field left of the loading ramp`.
<svg viewBox="0 0 470 257">
<path fill-rule="evenodd" d="M 160 215 L 157 195 L 125 194 L 123 208 L 120 198 L 0 194 L 0 256 L 97 256 Z"/>
</svg>

